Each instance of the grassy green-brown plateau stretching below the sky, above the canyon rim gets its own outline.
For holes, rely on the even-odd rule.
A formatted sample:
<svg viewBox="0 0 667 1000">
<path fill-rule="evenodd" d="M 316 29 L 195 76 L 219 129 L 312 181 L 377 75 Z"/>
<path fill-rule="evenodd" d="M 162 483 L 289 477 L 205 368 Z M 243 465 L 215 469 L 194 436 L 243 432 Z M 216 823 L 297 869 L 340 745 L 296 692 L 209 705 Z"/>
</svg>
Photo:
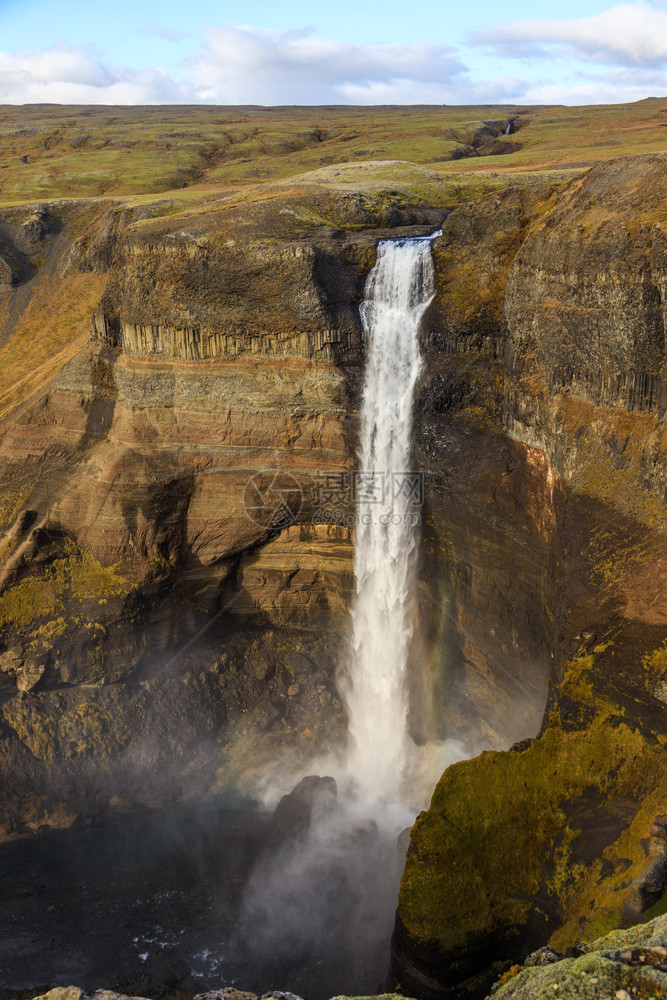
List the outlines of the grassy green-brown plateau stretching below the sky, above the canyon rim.
<svg viewBox="0 0 667 1000">
<path fill-rule="evenodd" d="M 0 108 L 0 203 L 202 195 L 335 165 L 408 161 L 451 180 L 571 175 L 610 156 L 663 150 L 667 99 L 583 108 Z M 517 132 L 503 135 L 517 119 Z M 497 148 L 506 155 L 485 155 Z M 497 176 L 495 184 L 498 185 Z"/>
</svg>

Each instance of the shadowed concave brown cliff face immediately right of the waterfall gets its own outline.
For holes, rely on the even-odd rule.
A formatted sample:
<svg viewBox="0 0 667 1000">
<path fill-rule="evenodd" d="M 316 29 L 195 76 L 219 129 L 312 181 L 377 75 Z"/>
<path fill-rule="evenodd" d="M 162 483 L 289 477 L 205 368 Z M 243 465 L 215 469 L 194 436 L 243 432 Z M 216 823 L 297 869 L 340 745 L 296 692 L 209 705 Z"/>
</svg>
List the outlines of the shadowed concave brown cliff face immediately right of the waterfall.
<svg viewBox="0 0 667 1000">
<path fill-rule="evenodd" d="M 412 674 L 430 673 L 435 732 L 480 748 L 535 736 L 547 700 L 556 600 L 546 462 L 499 435 L 434 422 Z M 424 685 L 422 684 L 422 687 Z"/>
</svg>

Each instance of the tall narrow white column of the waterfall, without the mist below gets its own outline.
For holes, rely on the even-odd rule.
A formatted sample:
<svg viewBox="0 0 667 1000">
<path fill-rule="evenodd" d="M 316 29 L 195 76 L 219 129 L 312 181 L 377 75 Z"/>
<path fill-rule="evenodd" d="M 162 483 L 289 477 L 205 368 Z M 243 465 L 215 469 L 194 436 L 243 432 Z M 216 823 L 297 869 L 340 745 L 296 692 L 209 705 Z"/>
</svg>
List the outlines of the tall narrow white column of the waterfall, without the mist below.
<svg viewBox="0 0 667 1000">
<path fill-rule="evenodd" d="M 419 324 L 434 294 L 431 239 L 382 240 L 361 307 L 367 362 L 355 473 L 356 592 L 341 689 L 347 770 L 367 801 L 400 797 L 412 746 L 406 668 L 421 500 L 413 408 Z"/>
</svg>

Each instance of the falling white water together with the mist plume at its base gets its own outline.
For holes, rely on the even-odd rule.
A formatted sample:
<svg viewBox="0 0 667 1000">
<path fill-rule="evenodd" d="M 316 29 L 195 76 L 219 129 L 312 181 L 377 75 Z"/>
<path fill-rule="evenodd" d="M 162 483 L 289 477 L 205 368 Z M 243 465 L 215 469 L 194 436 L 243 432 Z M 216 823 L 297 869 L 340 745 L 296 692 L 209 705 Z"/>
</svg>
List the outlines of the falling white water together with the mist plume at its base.
<svg viewBox="0 0 667 1000">
<path fill-rule="evenodd" d="M 454 742 L 419 749 L 408 730 L 406 673 L 413 632 L 419 527 L 392 473 L 413 471 L 418 332 L 433 297 L 428 239 L 383 241 L 366 284 L 367 340 L 359 470 L 387 487 L 384 502 L 358 498 L 352 648 L 341 694 L 349 742 L 338 755 L 276 761 L 265 801 L 276 805 L 305 774 L 336 779 L 335 809 L 313 809 L 310 826 L 262 862 L 244 895 L 244 919 L 261 955 L 302 968 L 333 956 L 341 993 L 370 992 L 386 973 L 404 853 L 397 836 L 424 808 L 445 767 L 465 756 Z M 412 477 L 409 477 L 409 482 Z M 313 956 L 320 956 L 317 963 Z M 325 971 L 328 966 L 321 966 Z M 329 996 L 331 978 L 325 981 Z"/>
</svg>

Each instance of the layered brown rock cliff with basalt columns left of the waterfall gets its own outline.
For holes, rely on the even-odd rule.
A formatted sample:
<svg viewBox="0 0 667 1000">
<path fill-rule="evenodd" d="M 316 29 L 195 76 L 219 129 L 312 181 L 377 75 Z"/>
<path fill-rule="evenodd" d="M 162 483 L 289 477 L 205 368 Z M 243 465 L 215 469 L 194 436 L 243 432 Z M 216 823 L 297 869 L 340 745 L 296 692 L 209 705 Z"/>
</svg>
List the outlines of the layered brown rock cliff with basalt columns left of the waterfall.
<svg viewBox="0 0 667 1000">
<path fill-rule="evenodd" d="M 319 494 L 352 463 L 358 303 L 401 231 L 373 227 L 442 214 L 400 201 L 4 214 L 2 834 L 340 736 L 352 532 Z"/>
</svg>

